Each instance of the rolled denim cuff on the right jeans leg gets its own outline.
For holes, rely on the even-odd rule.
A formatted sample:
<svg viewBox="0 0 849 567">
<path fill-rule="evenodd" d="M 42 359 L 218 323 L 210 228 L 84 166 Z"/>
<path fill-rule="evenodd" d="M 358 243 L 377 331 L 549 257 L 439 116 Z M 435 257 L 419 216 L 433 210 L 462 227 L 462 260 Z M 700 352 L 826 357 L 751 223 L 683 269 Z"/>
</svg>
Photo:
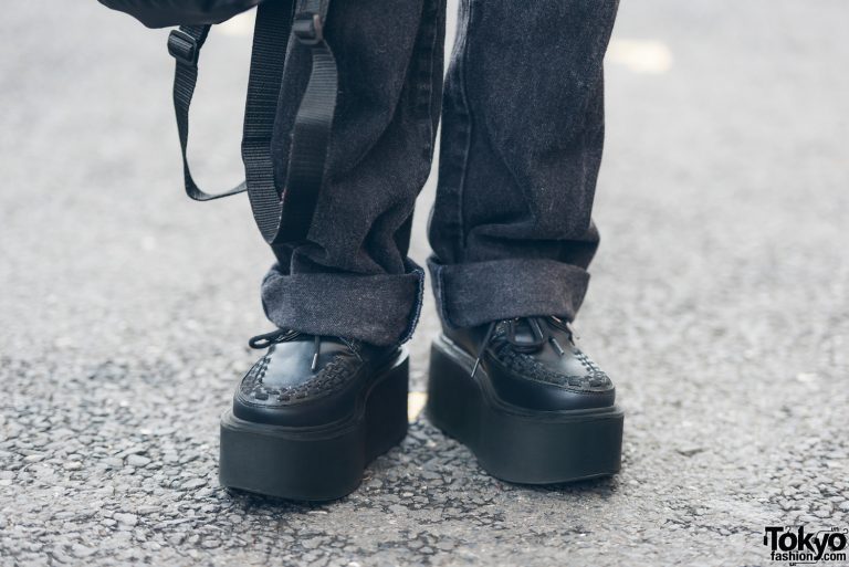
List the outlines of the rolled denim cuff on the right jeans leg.
<svg viewBox="0 0 849 567">
<path fill-rule="evenodd" d="M 555 260 L 440 264 L 431 256 L 428 269 L 440 316 L 450 327 L 535 315 L 572 321 L 589 283 L 586 270 Z"/>
</svg>

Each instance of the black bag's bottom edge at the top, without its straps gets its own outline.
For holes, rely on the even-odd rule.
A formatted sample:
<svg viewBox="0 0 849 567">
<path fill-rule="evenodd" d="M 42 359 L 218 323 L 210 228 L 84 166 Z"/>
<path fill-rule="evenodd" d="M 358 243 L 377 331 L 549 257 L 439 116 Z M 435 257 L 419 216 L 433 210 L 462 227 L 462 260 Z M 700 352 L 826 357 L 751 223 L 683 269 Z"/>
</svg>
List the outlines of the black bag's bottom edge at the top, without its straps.
<svg viewBox="0 0 849 567">
<path fill-rule="evenodd" d="M 98 0 L 126 12 L 148 28 L 221 23 L 261 0 Z"/>
</svg>

